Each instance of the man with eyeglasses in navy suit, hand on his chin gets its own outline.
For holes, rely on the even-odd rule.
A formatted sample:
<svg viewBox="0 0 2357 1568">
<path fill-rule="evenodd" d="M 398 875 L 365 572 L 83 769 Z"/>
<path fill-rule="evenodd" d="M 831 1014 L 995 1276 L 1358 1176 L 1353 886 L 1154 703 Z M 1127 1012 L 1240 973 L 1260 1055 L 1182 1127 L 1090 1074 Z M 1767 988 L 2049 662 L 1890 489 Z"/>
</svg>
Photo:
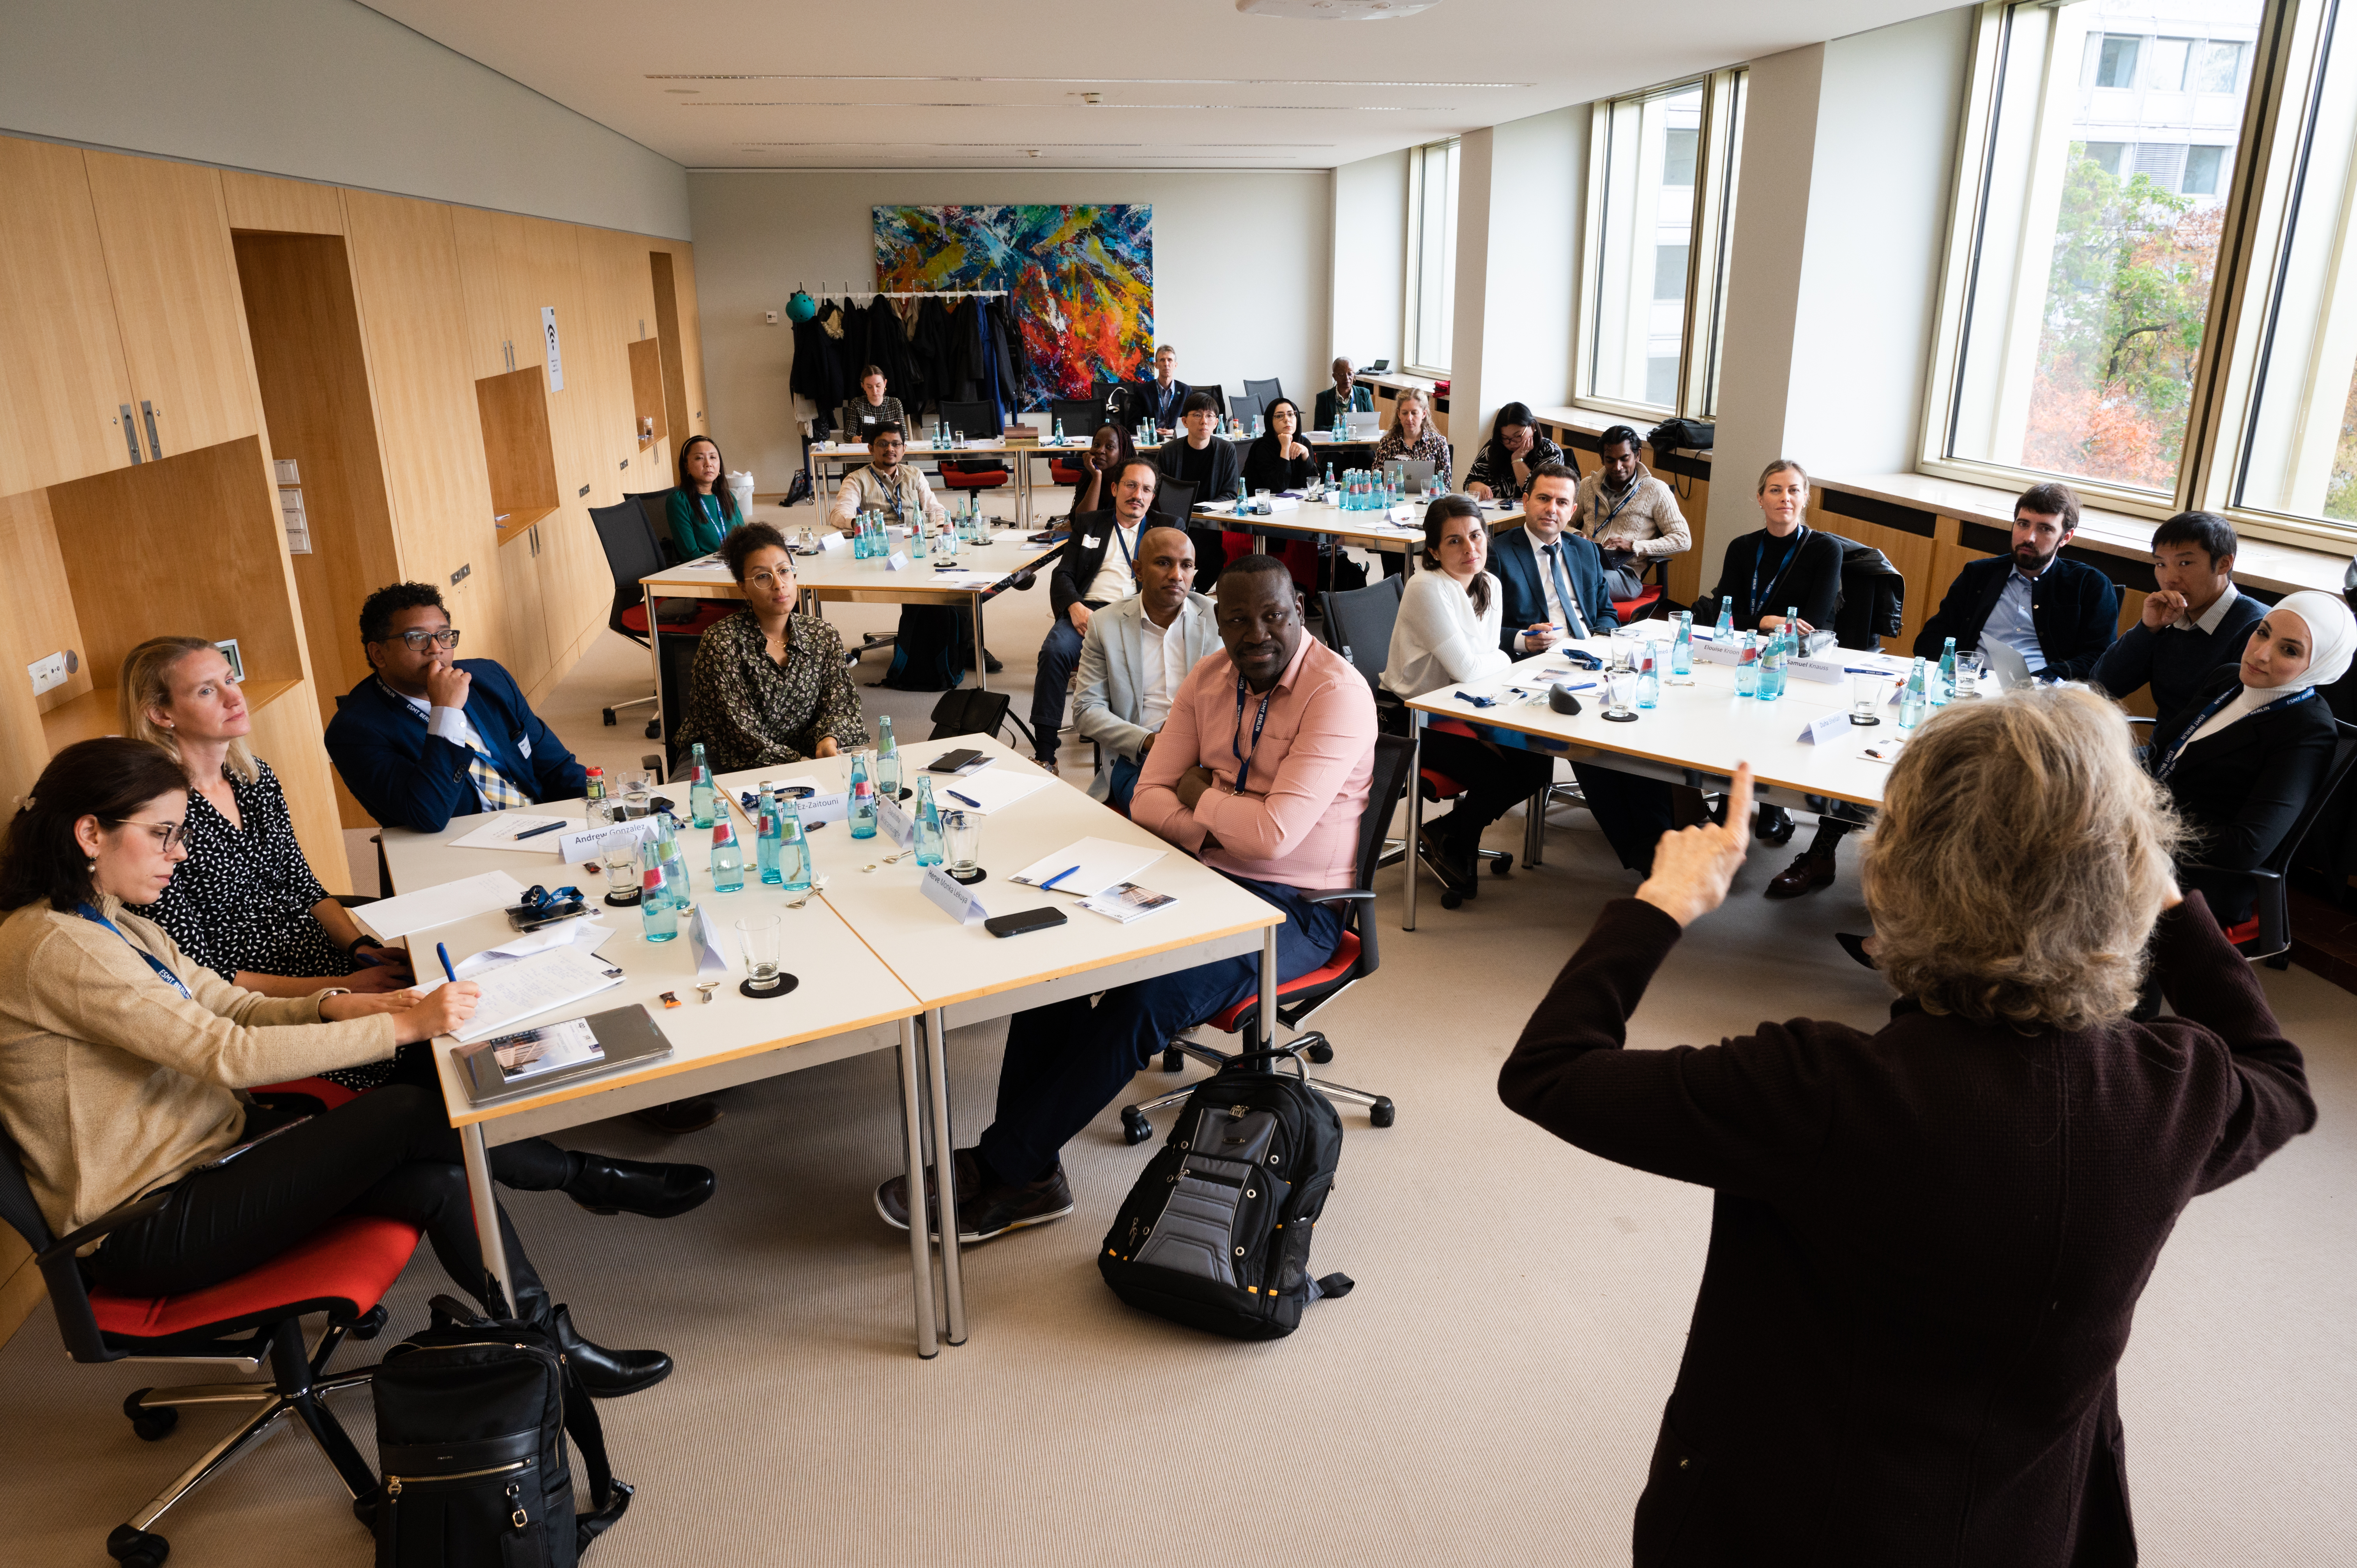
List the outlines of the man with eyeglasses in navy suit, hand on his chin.
<svg viewBox="0 0 2357 1568">
<path fill-rule="evenodd" d="M 573 799 L 589 771 L 488 658 L 460 660 L 431 582 L 394 582 L 361 604 L 375 670 L 335 703 L 328 759 L 387 828 L 441 832 L 453 816 Z"/>
</svg>

